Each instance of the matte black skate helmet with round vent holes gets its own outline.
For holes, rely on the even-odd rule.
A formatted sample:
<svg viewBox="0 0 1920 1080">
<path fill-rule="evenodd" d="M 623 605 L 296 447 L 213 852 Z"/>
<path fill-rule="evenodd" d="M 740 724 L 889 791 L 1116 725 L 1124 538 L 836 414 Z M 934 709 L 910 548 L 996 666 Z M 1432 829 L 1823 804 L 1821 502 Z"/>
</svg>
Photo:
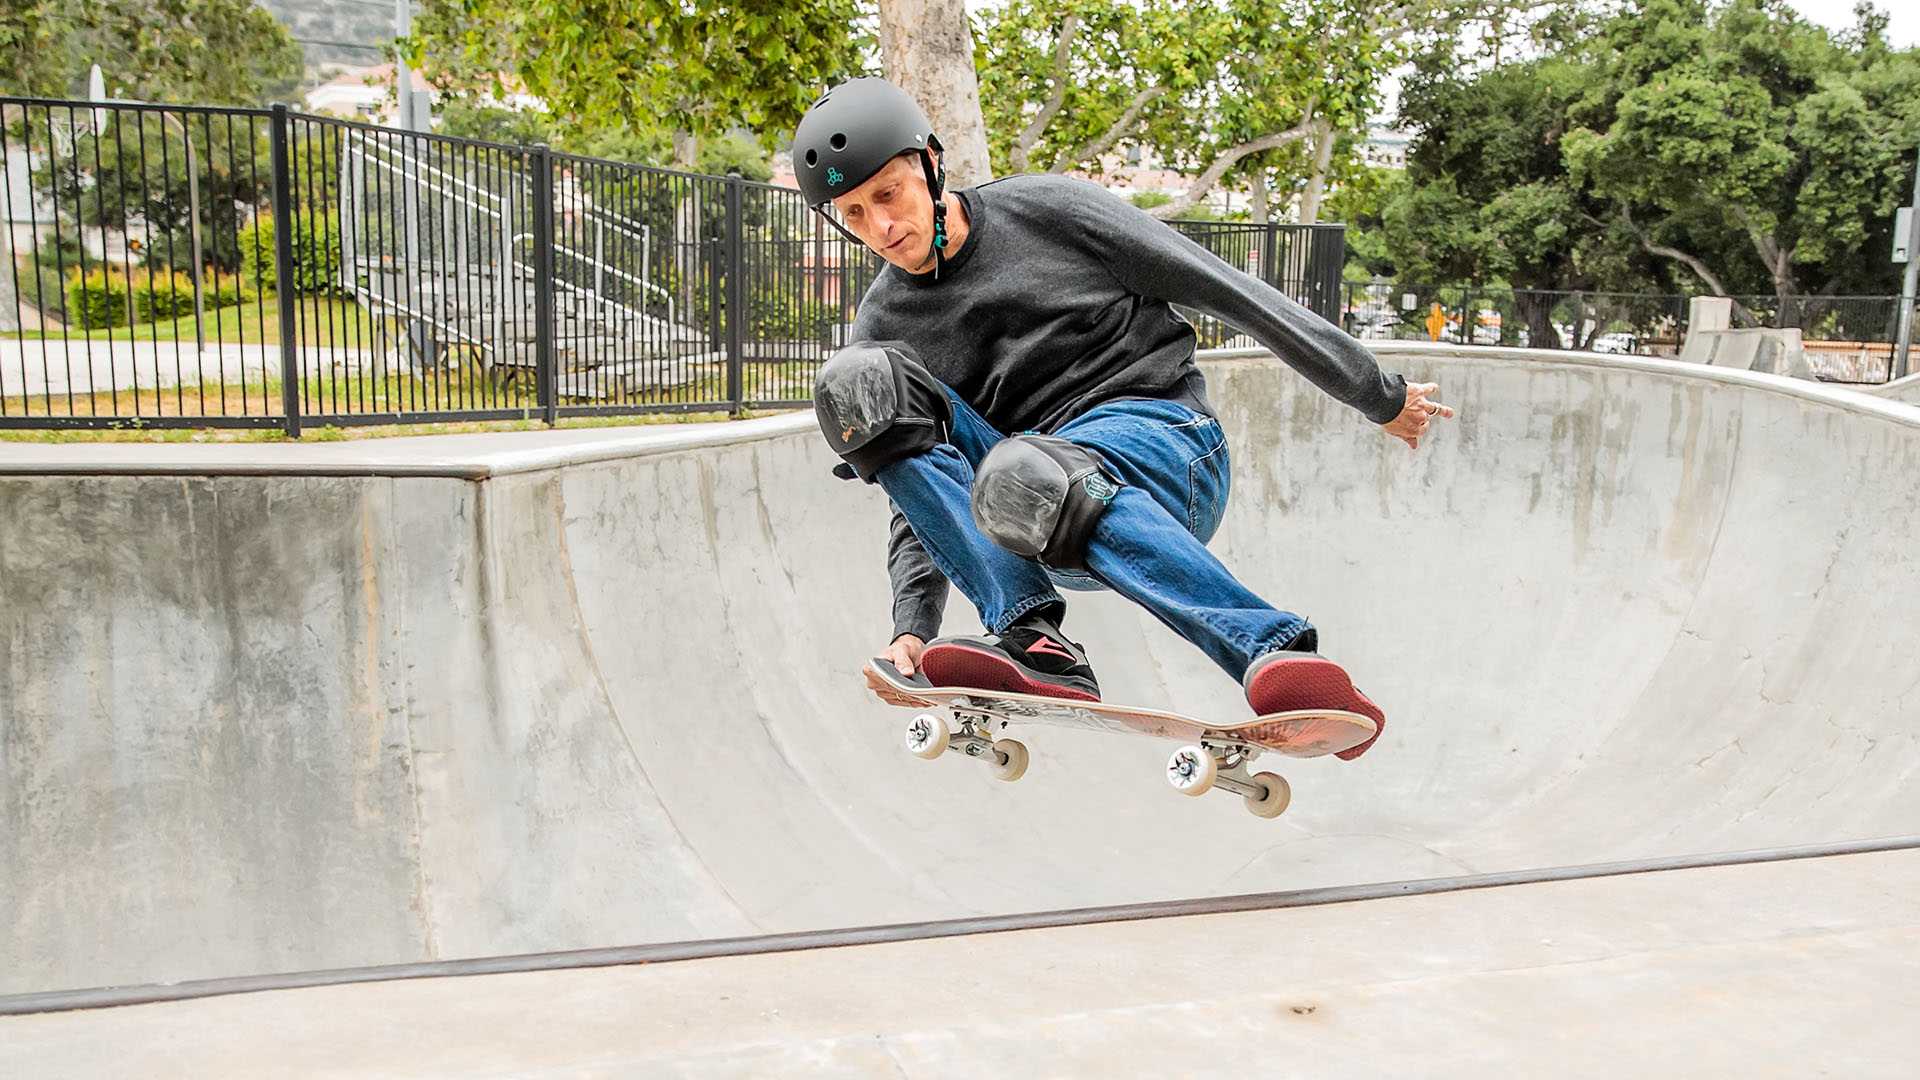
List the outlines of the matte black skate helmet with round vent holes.
<svg viewBox="0 0 1920 1080">
<path fill-rule="evenodd" d="M 793 175 L 806 204 L 822 206 L 864 184 L 908 150 L 922 152 L 931 179 L 933 161 L 925 152 L 939 148 L 927 113 L 906 90 L 885 79 L 854 79 L 820 94 L 801 117 L 793 133 Z M 941 192 L 935 190 L 933 198 Z"/>
</svg>

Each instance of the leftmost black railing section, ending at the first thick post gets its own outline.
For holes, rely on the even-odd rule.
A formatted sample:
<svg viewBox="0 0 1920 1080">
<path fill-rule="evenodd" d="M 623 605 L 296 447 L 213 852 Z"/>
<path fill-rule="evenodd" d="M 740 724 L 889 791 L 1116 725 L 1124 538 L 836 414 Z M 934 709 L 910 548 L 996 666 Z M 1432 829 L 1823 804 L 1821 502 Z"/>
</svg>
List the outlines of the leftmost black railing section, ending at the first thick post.
<svg viewBox="0 0 1920 1080">
<path fill-rule="evenodd" d="M 0 423 L 278 425 L 273 113 L 0 100 Z"/>
</svg>

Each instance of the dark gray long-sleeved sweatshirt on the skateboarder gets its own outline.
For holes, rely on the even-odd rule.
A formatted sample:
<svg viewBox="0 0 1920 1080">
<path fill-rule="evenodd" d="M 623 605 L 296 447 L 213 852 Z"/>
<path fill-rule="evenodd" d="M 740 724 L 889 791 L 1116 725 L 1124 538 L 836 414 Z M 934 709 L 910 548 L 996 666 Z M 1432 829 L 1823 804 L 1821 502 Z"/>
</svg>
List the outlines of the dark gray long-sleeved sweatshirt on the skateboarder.
<svg viewBox="0 0 1920 1080">
<path fill-rule="evenodd" d="M 1388 423 L 1405 379 L 1281 290 L 1106 188 L 1050 175 L 954 192 L 966 244 L 941 269 L 885 267 L 851 340 L 899 340 L 1004 434 L 1050 432 L 1117 398 L 1212 413 L 1181 304 L 1250 334 L 1332 398 Z M 887 546 L 893 634 L 933 638 L 947 578 L 899 507 Z"/>
</svg>

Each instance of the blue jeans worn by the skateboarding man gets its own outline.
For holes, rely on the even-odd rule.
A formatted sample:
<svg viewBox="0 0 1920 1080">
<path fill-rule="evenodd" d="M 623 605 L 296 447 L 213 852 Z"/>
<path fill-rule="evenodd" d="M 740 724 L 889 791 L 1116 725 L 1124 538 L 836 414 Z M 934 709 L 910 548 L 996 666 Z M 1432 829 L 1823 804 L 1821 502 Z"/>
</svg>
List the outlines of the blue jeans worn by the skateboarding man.
<svg viewBox="0 0 1920 1080">
<path fill-rule="evenodd" d="M 952 442 L 895 461 L 876 480 L 989 630 L 998 634 L 1037 607 L 1060 605 L 1056 586 L 1110 588 L 1240 678 L 1254 657 L 1308 628 L 1306 619 L 1254 596 L 1206 550 L 1231 486 L 1227 438 L 1213 417 L 1177 402 L 1123 400 L 1052 432 L 1100 452 L 1125 482 L 1087 544 L 1087 575 L 1016 555 L 973 525 L 973 469 L 1006 436 L 952 390 L 947 396 Z"/>
</svg>

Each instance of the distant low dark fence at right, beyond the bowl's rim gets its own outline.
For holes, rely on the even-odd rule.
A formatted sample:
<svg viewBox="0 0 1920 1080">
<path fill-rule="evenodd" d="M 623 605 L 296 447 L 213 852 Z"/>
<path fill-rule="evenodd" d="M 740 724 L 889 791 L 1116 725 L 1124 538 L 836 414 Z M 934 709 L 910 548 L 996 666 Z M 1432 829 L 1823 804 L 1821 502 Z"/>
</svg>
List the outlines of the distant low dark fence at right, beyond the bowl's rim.
<svg viewBox="0 0 1920 1080">
<path fill-rule="evenodd" d="M 1348 282 L 1340 325 L 1369 340 L 1678 356 L 1690 300 L 1682 294 Z M 1732 300 L 1736 325 L 1799 329 L 1820 379 L 1885 382 L 1891 375 L 1899 296 Z"/>
</svg>

